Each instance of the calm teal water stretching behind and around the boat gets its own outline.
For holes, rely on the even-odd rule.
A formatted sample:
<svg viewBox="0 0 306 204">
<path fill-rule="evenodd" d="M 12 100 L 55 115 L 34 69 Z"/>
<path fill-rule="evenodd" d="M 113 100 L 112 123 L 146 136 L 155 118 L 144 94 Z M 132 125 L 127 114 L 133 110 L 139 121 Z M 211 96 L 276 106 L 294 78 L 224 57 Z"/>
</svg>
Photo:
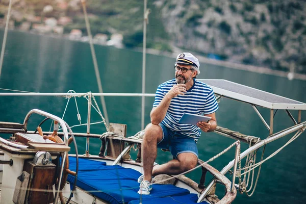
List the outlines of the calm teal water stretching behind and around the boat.
<svg viewBox="0 0 306 204">
<path fill-rule="evenodd" d="M 2 37 L 3 31 L 0 34 Z M 141 93 L 142 53 L 97 45 L 95 51 L 105 92 Z M 172 58 L 147 55 L 146 93 L 155 93 L 159 84 L 173 78 L 173 62 Z M 204 63 L 201 63 L 200 68 L 201 74 L 198 79 L 226 79 L 306 102 L 305 81 L 289 81 L 286 78 Z M 98 92 L 89 44 L 28 33 L 9 32 L 0 88 L 31 92 L 67 92 L 70 89 L 75 92 Z M 99 98 L 96 99 L 100 105 Z M 77 101 L 82 123 L 85 123 L 87 101 L 83 97 L 78 98 Z M 149 122 L 149 112 L 153 101 L 152 97 L 146 98 L 146 123 Z M 0 97 L 0 121 L 22 123 L 27 112 L 34 108 L 62 116 L 66 103 L 67 100 L 62 97 Z M 140 97 L 106 97 L 106 105 L 110 122 L 127 124 L 129 136 L 140 131 Z M 224 98 L 221 99 L 219 107 L 217 120 L 220 126 L 226 126 L 246 135 L 261 138 L 267 136 L 268 130 L 250 105 L 240 105 L 237 101 Z M 70 100 L 64 120 L 71 126 L 79 123 L 76 110 L 74 100 Z M 269 111 L 266 109 L 260 109 L 260 111 L 269 120 Z M 297 112 L 292 112 L 292 114 L 297 117 Z M 94 110 L 92 110 L 91 117 L 92 122 L 100 120 Z M 305 120 L 305 117 L 305 113 L 302 112 L 302 119 Z M 33 116 L 29 130 L 33 130 L 42 119 L 43 117 Z M 274 130 L 279 131 L 291 124 L 292 121 L 284 111 L 278 111 L 275 114 Z M 48 131 L 50 123 L 44 124 L 42 128 Z M 101 134 L 105 128 L 99 124 L 91 126 L 90 130 L 92 133 Z M 77 127 L 73 131 L 85 132 L 86 127 Z M 305 203 L 305 136 L 306 134 L 303 133 L 278 155 L 264 163 L 254 195 L 248 198 L 245 194 L 239 194 L 234 203 Z M 286 136 L 268 144 L 265 156 L 281 147 L 289 137 Z M 77 142 L 80 154 L 84 154 L 85 140 L 78 138 Z M 233 142 L 232 139 L 214 133 L 203 133 L 198 142 L 199 158 L 206 161 Z M 90 153 L 97 154 L 99 147 L 99 140 L 91 140 Z M 244 150 L 247 145 L 243 144 L 242 148 Z M 262 150 L 259 151 L 258 160 L 261 152 Z M 132 156 L 135 156 L 135 152 Z M 231 150 L 213 161 L 211 165 L 221 170 L 233 157 L 234 150 Z M 169 153 L 158 152 L 158 163 L 164 163 L 170 159 Z M 187 176 L 199 181 L 200 170 L 191 172 Z M 221 195 L 223 187 L 219 186 L 217 189 Z"/>
</svg>

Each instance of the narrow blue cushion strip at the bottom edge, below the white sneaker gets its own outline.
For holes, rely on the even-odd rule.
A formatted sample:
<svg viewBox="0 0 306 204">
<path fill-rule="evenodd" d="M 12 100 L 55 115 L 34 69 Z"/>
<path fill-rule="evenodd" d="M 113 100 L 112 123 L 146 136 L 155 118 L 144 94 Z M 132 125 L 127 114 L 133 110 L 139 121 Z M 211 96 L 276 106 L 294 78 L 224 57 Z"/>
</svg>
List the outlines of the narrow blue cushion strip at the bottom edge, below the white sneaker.
<svg viewBox="0 0 306 204">
<path fill-rule="evenodd" d="M 143 198 L 140 202 L 140 200 L 132 200 L 129 202 L 129 204 L 156 204 L 156 203 L 167 203 L 167 204 L 177 204 L 177 203 L 197 203 L 198 196 L 195 193 L 187 194 L 187 195 L 181 195 L 181 196 L 171 196 L 171 197 L 161 197 L 161 198 L 154 198 L 151 197 L 150 199 Z M 207 203 L 206 201 L 202 201 L 200 203 Z"/>
</svg>

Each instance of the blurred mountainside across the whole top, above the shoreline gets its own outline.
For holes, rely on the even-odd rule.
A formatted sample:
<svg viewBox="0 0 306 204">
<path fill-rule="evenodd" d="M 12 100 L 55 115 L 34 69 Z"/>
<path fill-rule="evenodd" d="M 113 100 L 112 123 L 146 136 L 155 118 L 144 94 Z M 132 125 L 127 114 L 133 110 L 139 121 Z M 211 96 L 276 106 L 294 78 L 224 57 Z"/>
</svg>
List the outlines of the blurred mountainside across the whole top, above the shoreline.
<svg viewBox="0 0 306 204">
<path fill-rule="evenodd" d="M 8 2 L 1 1 L 0 18 L 5 17 Z M 71 17 L 64 33 L 75 28 L 86 33 L 80 1 L 13 2 L 15 28 L 28 20 L 27 15 L 41 16 L 50 5 L 54 9 L 44 17 Z M 126 47 L 142 46 L 142 1 L 88 0 L 86 6 L 93 34 L 120 33 Z M 148 0 L 147 7 L 149 48 L 167 52 L 180 48 L 214 59 L 306 73 L 304 0 Z"/>
</svg>

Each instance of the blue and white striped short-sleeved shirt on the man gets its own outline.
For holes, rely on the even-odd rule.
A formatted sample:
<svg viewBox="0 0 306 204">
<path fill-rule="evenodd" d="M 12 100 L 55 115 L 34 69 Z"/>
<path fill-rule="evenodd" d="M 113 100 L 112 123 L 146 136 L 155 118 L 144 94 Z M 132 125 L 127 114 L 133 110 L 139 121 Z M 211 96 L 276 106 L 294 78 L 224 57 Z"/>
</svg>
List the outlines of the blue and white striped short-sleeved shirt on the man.
<svg viewBox="0 0 306 204">
<path fill-rule="evenodd" d="M 197 142 L 201 135 L 201 129 L 196 125 L 179 123 L 184 113 L 208 115 L 218 110 L 214 91 L 207 84 L 193 79 L 193 86 L 185 95 L 177 95 L 171 99 L 166 116 L 161 122 L 170 130 L 180 132 L 191 137 Z M 153 107 L 157 107 L 166 93 L 176 85 L 175 79 L 158 86 Z"/>
</svg>

